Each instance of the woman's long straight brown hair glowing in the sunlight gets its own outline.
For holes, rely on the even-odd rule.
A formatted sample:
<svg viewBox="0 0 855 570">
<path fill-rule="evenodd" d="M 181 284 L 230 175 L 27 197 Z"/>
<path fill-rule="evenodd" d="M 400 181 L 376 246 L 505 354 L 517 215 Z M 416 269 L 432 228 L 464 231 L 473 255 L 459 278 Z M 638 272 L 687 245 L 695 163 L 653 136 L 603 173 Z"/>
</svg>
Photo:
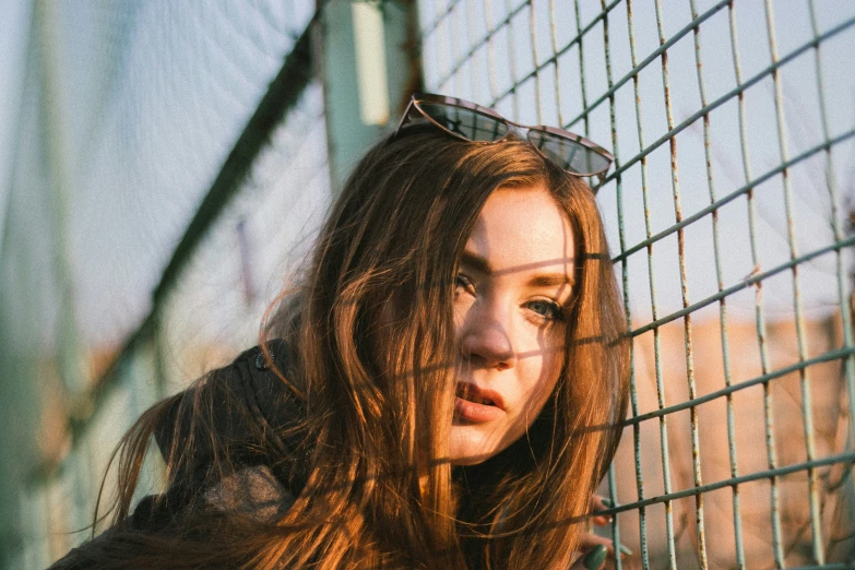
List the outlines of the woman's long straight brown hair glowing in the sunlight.
<svg viewBox="0 0 855 570">
<path fill-rule="evenodd" d="M 530 432 L 489 460 L 489 476 L 476 477 L 475 467 L 467 477 L 447 460 L 454 272 L 490 192 L 532 186 L 549 190 L 574 231 L 565 365 Z M 628 394 L 626 321 L 603 224 L 581 179 L 518 140 L 485 145 L 413 130 L 383 141 L 345 185 L 301 285 L 270 314 L 262 341 L 286 340 L 292 361 L 281 380 L 301 409 L 285 428 L 301 441 L 304 464 L 295 468 L 305 485 L 294 504 L 273 524 L 187 513 L 178 534 L 128 537 L 119 558 L 173 567 L 569 566 Z M 213 450 L 211 480 L 234 470 L 229 443 L 213 429 L 219 381 L 200 379 L 181 412 L 176 399 L 157 404 L 126 435 L 117 524 L 130 512 L 150 437 L 175 417 L 192 427 L 175 427 L 180 437 L 164 450 L 170 488 L 192 487 L 188 465 L 200 446 Z"/>
</svg>

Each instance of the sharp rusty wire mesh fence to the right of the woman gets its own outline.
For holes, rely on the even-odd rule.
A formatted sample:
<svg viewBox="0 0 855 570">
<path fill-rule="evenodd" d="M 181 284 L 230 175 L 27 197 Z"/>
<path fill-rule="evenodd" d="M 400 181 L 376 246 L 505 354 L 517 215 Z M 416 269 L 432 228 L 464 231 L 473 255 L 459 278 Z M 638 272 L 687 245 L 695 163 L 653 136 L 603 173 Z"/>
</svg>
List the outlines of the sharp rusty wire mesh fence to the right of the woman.
<svg viewBox="0 0 855 570">
<path fill-rule="evenodd" d="M 638 553 L 622 566 L 851 560 L 854 121 L 836 52 L 855 20 L 830 8 L 420 3 L 430 90 L 614 147 L 598 198 L 634 340 L 608 480 L 614 537 Z"/>
</svg>

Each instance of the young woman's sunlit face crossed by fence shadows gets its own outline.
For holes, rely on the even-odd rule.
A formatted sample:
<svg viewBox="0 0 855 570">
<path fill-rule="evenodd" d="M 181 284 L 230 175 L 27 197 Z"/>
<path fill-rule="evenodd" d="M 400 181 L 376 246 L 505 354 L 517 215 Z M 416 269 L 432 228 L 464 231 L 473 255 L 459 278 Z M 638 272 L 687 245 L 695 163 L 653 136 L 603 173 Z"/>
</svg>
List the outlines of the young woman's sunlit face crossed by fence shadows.
<svg viewBox="0 0 855 570">
<path fill-rule="evenodd" d="M 573 235 L 541 187 L 499 189 L 478 215 L 456 276 L 453 464 L 519 439 L 560 373 L 573 293 Z"/>
</svg>

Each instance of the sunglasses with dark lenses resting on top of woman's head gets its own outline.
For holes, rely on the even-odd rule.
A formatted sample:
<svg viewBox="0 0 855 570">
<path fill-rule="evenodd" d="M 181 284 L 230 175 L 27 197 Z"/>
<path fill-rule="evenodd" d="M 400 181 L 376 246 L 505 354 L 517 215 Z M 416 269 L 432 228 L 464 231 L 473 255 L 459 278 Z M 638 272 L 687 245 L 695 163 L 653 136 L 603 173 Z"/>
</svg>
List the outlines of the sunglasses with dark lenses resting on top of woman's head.
<svg viewBox="0 0 855 570">
<path fill-rule="evenodd" d="M 480 143 L 502 141 L 512 130 L 525 131 L 525 139 L 538 153 L 574 176 L 602 177 L 615 159 L 602 146 L 570 131 L 520 124 L 480 105 L 429 93 L 413 95 L 395 134 L 407 124 L 424 121 L 463 141 Z"/>
</svg>

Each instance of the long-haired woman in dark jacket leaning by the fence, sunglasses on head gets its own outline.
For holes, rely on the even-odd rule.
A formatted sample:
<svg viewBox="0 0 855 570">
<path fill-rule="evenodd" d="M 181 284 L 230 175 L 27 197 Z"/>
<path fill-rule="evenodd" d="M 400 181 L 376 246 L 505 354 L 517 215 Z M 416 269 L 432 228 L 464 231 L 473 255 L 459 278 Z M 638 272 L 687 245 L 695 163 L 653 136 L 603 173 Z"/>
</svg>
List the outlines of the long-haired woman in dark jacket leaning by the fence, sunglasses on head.
<svg viewBox="0 0 855 570">
<path fill-rule="evenodd" d="M 580 174 L 610 155 L 515 127 L 414 97 L 261 347 L 143 414 L 114 526 L 58 568 L 568 568 L 595 544 L 628 344 Z M 167 491 L 131 514 L 152 436 Z"/>
</svg>

